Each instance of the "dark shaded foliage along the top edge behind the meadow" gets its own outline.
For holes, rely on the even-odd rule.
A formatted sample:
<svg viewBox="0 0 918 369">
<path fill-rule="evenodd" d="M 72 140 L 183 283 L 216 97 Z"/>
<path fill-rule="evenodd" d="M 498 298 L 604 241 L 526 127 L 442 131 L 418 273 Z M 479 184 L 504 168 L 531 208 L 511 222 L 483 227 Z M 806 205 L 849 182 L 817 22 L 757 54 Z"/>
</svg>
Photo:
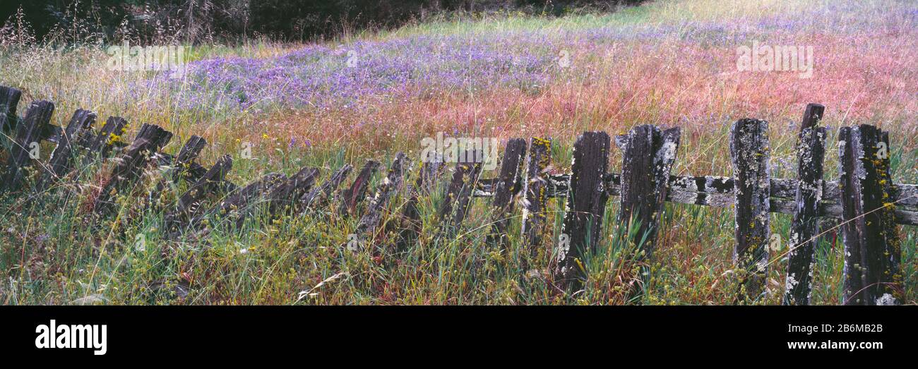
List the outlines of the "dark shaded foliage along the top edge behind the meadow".
<svg viewBox="0 0 918 369">
<path fill-rule="evenodd" d="M 610 10 L 644 0 L 25 0 L 4 1 L 7 31 L 25 21 L 37 39 L 73 42 L 178 38 L 188 42 L 249 37 L 327 39 L 365 28 L 394 28 L 444 13 L 521 11 L 560 16 Z"/>
</svg>

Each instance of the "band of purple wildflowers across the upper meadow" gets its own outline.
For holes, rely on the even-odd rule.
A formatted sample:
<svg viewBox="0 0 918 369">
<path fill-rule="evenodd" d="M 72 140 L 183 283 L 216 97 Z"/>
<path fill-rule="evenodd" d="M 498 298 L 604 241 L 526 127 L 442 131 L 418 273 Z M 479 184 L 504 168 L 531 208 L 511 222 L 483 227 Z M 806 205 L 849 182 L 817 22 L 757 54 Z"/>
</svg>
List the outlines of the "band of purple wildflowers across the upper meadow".
<svg viewBox="0 0 918 369">
<path fill-rule="evenodd" d="M 172 104 L 182 109 L 253 111 L 281 107 L 358 112 L 379 104 L 508 88 L 536 94 L 559 78 L 592 75 L 590 71 L 565 73 L 556 62 L 561 50 L 582 58 L 604 53 L 614 43 L 637 41 L 653 53 L 666 39 L 705 49 L 732 49 L 776 31 L 835 32 L 851 27 L 844 23 L 846 19 L 818 17 L 826 9 L 831 6 L 813 10 L 812 17 L 776 15 L 750 23 L 686 20 L 645 26 L 415 35 L 358 40 L 337 47 L 309 45 L 271 59 L 191 62 L 184 80 L 157 76 L 144 87 L 174 96 Z M 890 17 L 895 19 L 888 23 L 896 27 L 915 23 L 913 15 Z M 705 59 L 711 60 L 711 55 Z"/>
</svg>

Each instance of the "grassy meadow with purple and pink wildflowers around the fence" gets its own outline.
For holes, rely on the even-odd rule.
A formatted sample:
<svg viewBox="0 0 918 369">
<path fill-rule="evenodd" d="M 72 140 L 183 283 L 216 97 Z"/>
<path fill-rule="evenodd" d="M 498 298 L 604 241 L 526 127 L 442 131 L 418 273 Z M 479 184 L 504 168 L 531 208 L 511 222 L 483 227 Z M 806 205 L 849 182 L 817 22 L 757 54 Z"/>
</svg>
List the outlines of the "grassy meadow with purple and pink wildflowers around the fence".
<svg viewBox="0 0 918 369">
<path fill-rule="evenodd" d="M 736 49 L 754 41 L 812 46 L 812 78 L 739 72 Z M 918 184 L 918 4 L 909 1 L 661 0 L 610 14 L 442 16 L 319 43 L 197 45 L 185 55 L 182 79 L 108 70 L 105 47 L 87 37 L 67 47 L 0 48 L 0 84 L 22 90 L 20 115 L 33 100 L 54 102 L 56 125 L 77 108 L 95 111 L 97 127 L 125 117 L 129 138 L 141 124 L 156 124 L 174 133 L 164 149 L 171 153 L 200 135 L 208 145 L 198 162 L 232 155 L 228 179 L 236 184 L 304 165 L 319 168 L 321 182 L 345 163 L 354 172 L 368 159 L 387 166 L 397 151 L 420 163 L 420 140 L 437 132 L 501 144 L 551 137 L 551 171 L 566 173 L 580 132 L 615 135 L 641 124 L 682 129 L 674 174 L 732 175 L 727 139 L 743 117 L 769 121 L 771 175 L 794 178 L 807 103 L 826 107 L 826 180 L 838 173 L 838 128 L 867 123 L 890 130 L 894 181 Z M 46 160 L 52 146 L 44 145 Z M 251 159 L 243 158 L 246 147 Z M 620 170 L 620 154 L 613 149 L 610 172 Z M 115 217 L 87 214 L 94 184 L 111 165 L 78 167 L 72 181 L 36 201 L 0 195 L 0 303 L 722 305 L 733 303 L 738 284 L 730 207 L 667 203 L 654 278 L 644 296 L 630 299 L 639 265 L 627 256 L 635 246 L 621 240 L 617 197 L 599 252 L 585 261 L 585 288 L 562 293 L 544 273 L 557 240 L 533 255 L 514 221 L 506 249 L 489 246 L 487 199 L 473 202 L 455 237 L 439 238 L 442 196 L 421 198 L 423 230 L 407 252 L 390 247 L 394 237 L 386 234 L 373 240 L 379 255 L 348 252 L 342 245 L 358 218 L 331 207 L 165 240 L 162 211 L 138 209 L 132 198 L 121 199 Z M 135 190 L 160 174 L 149 171 Z M 405 201 L 397 196 L 389 209 L 397 214 Z M 555 238 L 563 207 L 549 201 Z M 790 220 L 772 213 L 772 232 L 786 240 Z M 904 303 L 915 304 L 918 229 L 903 226 L 900 234 Z M 842 302 L 842 250 L 840 234 L 821 238 L 813 304 Z M 787 261 L 772 257 L 769 294 L 758 304 L 780 304 L 783 294 Z"/>
</svg>

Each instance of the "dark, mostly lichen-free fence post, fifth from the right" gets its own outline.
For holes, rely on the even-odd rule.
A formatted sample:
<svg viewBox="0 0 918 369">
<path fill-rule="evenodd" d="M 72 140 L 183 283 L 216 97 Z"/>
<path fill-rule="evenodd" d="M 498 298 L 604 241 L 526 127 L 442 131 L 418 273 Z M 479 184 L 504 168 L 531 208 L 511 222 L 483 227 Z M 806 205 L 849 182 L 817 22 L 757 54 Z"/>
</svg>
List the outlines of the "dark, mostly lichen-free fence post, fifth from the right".
<svg viewBox="0 0 918 369">
<path fill-rule="evenodd" d="M 554 281 L 579 289 L 587 277 L 585 260 L 599 244 L 606 211 L 605 174 L 610 138 L 606 132 L 584 132 L 574 144 L 564 226 L 558 238 Z"/>
</svg>

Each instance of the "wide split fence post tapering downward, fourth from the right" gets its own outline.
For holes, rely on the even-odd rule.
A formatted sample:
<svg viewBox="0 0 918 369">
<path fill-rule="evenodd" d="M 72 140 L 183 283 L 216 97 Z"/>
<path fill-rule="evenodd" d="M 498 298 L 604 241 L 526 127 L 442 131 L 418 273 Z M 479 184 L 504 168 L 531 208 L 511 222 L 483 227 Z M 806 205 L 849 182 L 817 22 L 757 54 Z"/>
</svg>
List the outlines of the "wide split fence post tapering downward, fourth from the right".
<svg viewBox="0 0 918 369">
<path fill-rule="evenodd" d="M 676 162 L 678 144 L 678 128 L 660 131 L 653 125 L 635 127 L 624 138 L 619 221 L 632 227 L 639 224 L 632 241 L 638 245 L 644 240 L 640 260 L 651 260 L 655 250 L 658 223 L 666 202 L 666 184 Z M 644 274 L 647 272 L 644 268 Z"/>
</svg>

